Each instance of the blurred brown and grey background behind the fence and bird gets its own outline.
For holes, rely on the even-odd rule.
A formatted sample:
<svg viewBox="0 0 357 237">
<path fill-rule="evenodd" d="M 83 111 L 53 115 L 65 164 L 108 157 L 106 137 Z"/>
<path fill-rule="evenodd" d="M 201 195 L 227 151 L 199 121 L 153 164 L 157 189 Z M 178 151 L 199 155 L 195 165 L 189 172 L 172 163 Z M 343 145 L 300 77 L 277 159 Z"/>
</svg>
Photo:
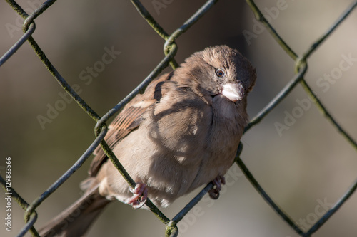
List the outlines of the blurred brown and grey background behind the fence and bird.
<svg viewBox="0 0 357 237">
<path fill-rule="evenodd" d="M 31 14 L 41 1 L 17 2 Z M 149 0 L 142 4 L 171 33 L 204 2 Z M 256 1 L 299 55 L 351 3 Z M 237 48 L 251 60 L 258 80 L 248 98 L 250 117 L 294 75 L 293 60 L 254 19 L 245 1 L 218 1 L 176 41 L 178 63 L 191 53 L 221 44 Z M 0 2 L 0 55 L 22 36 L 22 22 L 5 1 Z M 99 115 L 114 107 L 164 58 L 164 40 L 130 1 L 56 1 L 35 22 L 34 39 Z M 306 74 L 318 98 L 355 140 L 356 22 L 357 9 L 308 58 Z M 107 51 L 116 53 L 110 63 L 104 64 Z M 66 172 L 95 138 L 95 122 L 64 95 L 28 43 L 0 68 L 0 166 L 4 166 L 5 157 L 11 157 L 11 184 L 29 203 Z M 300 85 L 242 141 L 241 158 L 247 167 L 305 231 L 338 201 L 357 176 L 356 150 L 308 100 Z M 87 176 L 90 160 L 36 209 L 36 228 L 81 196 L 79 183 Z M 4 177 L 4 170 L 0 172 Z M 263 201 L 236 164 L 226 179 L 217 201 L 206 196 L 178 224 L 180 236 L 298 236 Z M 162 211 L 173 218 L 198 191 Z M 4 221 L 4 198 L 0 199 L 0 209 Z M 0 236 L 16 236 L 24 226 L 24 211 L 15 201 L 11 214 L 12 231 L 5 231 L 1 224 Z M 354 194 L 313 236 L 356 236 L 356 219 Z M 164 236 L 164 230 L 164 224 L 150 211 L 134 211 L 116 202 L 104 211 L 88 236 Z"/>
</svg>

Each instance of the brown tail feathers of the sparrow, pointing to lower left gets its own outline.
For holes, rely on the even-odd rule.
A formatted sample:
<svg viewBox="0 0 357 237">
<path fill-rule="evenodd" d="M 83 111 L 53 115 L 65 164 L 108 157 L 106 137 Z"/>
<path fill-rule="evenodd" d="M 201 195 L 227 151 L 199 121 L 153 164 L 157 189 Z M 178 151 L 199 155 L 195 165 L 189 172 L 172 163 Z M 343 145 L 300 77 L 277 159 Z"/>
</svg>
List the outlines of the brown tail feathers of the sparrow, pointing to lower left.
<svg viewBox="0 0 357 237">
<path fill-rule="evenodd" d="M 79 237 L 91 226 L 104 207 L 111 202 L 99 194 L 98 188 L 86 191 L 84 196 L 39 230 L 42 237 Z"/>
</svg>

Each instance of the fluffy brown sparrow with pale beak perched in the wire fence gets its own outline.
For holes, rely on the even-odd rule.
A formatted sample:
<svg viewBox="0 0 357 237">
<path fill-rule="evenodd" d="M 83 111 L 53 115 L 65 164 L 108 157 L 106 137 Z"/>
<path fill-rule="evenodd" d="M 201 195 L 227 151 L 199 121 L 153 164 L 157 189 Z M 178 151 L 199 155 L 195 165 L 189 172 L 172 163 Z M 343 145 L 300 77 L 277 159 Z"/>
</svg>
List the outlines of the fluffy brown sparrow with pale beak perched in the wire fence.
<svg viewBox="0 0 357 237">
<path fill-rule="evenodd" d="M 39 231 L 84 236 L 111 201 L 159 207 L 213 181 L 217 199 L 248 123 L 247 95 L 256 82 L 249 60 L 228 46 L 193 53 L 153 80 L 109 125 L 104 138 L 136 181 L 131 189 L 98 147 L 81 184 L 84 195 Z"/>
</svg>

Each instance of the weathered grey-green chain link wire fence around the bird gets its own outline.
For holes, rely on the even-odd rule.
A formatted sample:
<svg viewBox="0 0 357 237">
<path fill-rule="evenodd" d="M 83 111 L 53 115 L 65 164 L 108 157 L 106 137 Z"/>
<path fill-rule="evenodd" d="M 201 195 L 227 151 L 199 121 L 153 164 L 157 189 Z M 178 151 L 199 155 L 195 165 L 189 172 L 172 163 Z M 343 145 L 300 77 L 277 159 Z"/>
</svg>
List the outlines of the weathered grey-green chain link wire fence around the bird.
<svg viewBox="0 0 357 237">
<path fill-rule="evenodd" d="M 0 176 L 0 181 L 1 181 L 1 186 L 5 189 L 6 195 L 10 195 L 13 200 L 15 200 L 19 206 L 21 206 L 22 209 L 24 209 L 24 221 L 25 225 L 21 229 L 21 232 L 17 234 L 17 236 L 24 236 L 26 233 L 30 232 L 32 236 L 39 236 L 37 233 L 36 229 L 34 228 L 34 223 L 36 222 L 36 219 L 38 217 L 38 214 L 36 212 L 36 209 L 51 195 L 53 194 L 61 184 L 64 184 L 69 177 L 71 177 L 76 170 L 78 170 L 82 164 L 88 159 L 91 154 L 94 152 L 94 149 L 101 145 L 102 149 L 104 149 L 104 152 L 106 152 L 107 156 L 113 162 L 114 166 L 119 170 L 119 172 L 124 176 L 126 181 L 128 181 L 128 184 L 131 187 L 135 186 L 135 182 L 133 179 L 131 179 L 130 175 L 126 172 L 124 169 L 125 167 L 122 167 L 121 164 L 119 163 L 118 159 L 115 157 L 115 154 L 111 151 L 110 147 L 106 144 L 104 141 L 104 136 L 106 135 L 106 132 L 108 131 L 106 122 L 116 115 L 117 112 L 121 110 L 126 103 L 128 103 L 132 98 L 134 98 L 135 95 L 138 93 L 142 93 L 146 86 L 151 83 L 154 78 L 156 78 L 159 73 L 161 73 L 162 70 L 165 68 L 171 66 L 171 68 L 175 69 L 178 66 L 178 63 L 176 63 L 176 60 L 174 56 L 176 55 L 176 52 L 178 51 L 178 46 L 176 44 L 176 40 L 186 31 L 188 31 L 193 24 L 195 24 L 197 21 L 201 19 L 201 17 L 206 14 L 208 11 L 212 11 L 211 9 L 214 8 L 214 4 L 216 4 L 216 1 L 210 0 L 206 1 L 205 4 L 201 6 L 201 8 L 197 9 L 197 11 L 189 18 L 187 21 L 185 21 L 181 27 L 177 28 L 176 31 L 173 33 L 169 34 L 166 33 L 164 28 L 161 27 L 161 25 L 155 21 L 153 16 L 149 13 L 149 11 L 146 10 L 146 8 L 141 4 L 140 1 L 132 0 L 132 4 L 136 7 L 137 11 L 139 14 L 149 23 L 149 26 L 154 28 L 154 31 L 161 36 L 161 38 L 164 39 L 164 54 L 165 57 L 161 60 L 159 65 L 154 68 L 154 70 L 151 71 L 151 73 L 143 80 L 143 82 L 138 85 L 137 88 L 135 88 L 129 95 L 124 98 L 124 100 L 121 100 L 115 107 L 113 107 L 111 110 L 106 112 L 104 116 L 99 116 L 97 112 L 91 109 L 91 107 L 79 96 L 79 94 L 76 92 L 75 88 L 71 87 L 69 83 L 62 77 L 62 75 L 59 73 L 59 71 L 55 68 L 55 66 L 51 63 L 51 61 L 46 57 L 46 54 L 44 51 L 42 51 L 41 47 L 39 44 L 32 38 L 32 34 L 36 30 L 36 24 L 34 20 L 43 14 L 47 9 L 51 7 L 52 4 L 54 4 L 54 0 L 52 1 L 45 1 L 44 4 L 41 4 L 41 6 L 36 9 L 32 14 L 27 14 L 24 9 L 19 6 L 19 4 L 16 3 L 16 1 L 11 1 L 11 0 L 6 0 L 6 2 L 16 11 L 17 14 L 19 14 L 25 21 L 23 25 L 23 31 L 24 34 L 21 36 L 21 38 L 14 43 L 14 46 L 9 48 L 9 51 L 7 51 L 3 56 L 0 58 L 0 66 L 6 63 L 6 60 L 9 60 L 11 56 L 16 53 L 21 46 L 24 45 L 24 43 L 27 41 L 30 46 L 34 49 L 36 55 L 39 57 L 39 59 L 44 63 L 46 66 L 47 70 L 49 70 L 49 73 L 54 77 L 54 79 L 61 85 L 63 90 L 68 93 L 73 100 L 76 101 L 76 103 L 81 107 L 82 110 L 86 112 L 91 119 L 93 119 L 96 122 L 96 126 L 94 127 L 94 130 L 96 132 L 96 139 L 92 142 L 92 144 L 86 149 L 86 152 L 79 157 L 79 159 L 76 160 L 76 162 L 73 164 L 73 166 L 68 169 L 59 179 L 57 179 L 54 184 L 52 184 L 46 191 L 44 191 L 43 194 L 39 195 L 34 201 L 31 203 L 28 203 L 25 201 L 26 198 L 20 196 L 16 191 L 15 187 L 13 188 L 11 185 L 9 185 L 9 178 L 11 177 L 11 174 L 7 175 L 6 174 L 1 174 Z M 251 7 L 251 10 L 256 16 L 256 19 L 263 23 L 263 26 L 268 29 L 269 33 L 271 33 L 271 36 L 276 40 L 276 42 L 283 48 L 283 50 L 292 58 L 292 60 L 295 62 L 295 76 L 288 82 L 286 83 L 285 87 L 271 100 L 268 102 L 268 105 L 264 107 L 260 112 L 258 112 L 258 115 L 253 117 L 253 119 L 249 122 L 248 126 L 246 127 L 245 132 L 248 132 L 248 130 L 251 129 L 251 127 L 258 125 L 265 117 L 268 115 L 269 112 L 274 110 L 274 108 L 284 100 L 289 93 L 291 93 L 292 90 L 296 88 L 297 85 L 301 85 L 302 88 L 306 91 L 306 94 L 311 98 L 311 100 L 314 102 L 316 107 L 318 107 L 319 110 L 321 110 L 321 116 L 325 117 L 326 120 L 331 122 L 331 126 L 335 127 L 338 132 L 341 133 L 341 136 L 346 139 L 346 142 L 351 144 L 351 147 L 353 149 L 357 150 L 357 143 L 356 141 L 351 137 L 351 135 L 348 134 L 346 130 L 343 130 L 342 126 L 339 125 L 339 123 L 336 121 L 336 119 L 331 115 L 330 112 L 326 109 L 326 106 L 323 105 L 323 102 L 318 99 L 317 95 L 313 92 L 311 89 L 311 86 L 306 83 L 306 80 L 304 76 L 306 75 L 307 69 L 308 69 L 308 58 L 316 51 L 318 50 L 318 47 L 321 46 L 323 42 L 326 41 L 326 38 L 331 35 L 334 31 L 336 31 L 336 28 L 346 19 L 348 14 L 350 14 L 357 6 L 357 1 L 351 4 L 351 6 L 346 9 L 341 16 L 336 19 L 336 22 L 331 25 L 330 28 L 326 31 L 326 33 L 323 33 L 323 35 L 320 38 L 317 38 L 316 41 L 311 44 L 309 48 L 306 49 L 304 53 L 301 55 L 298 55 L 296 52 L 293 51 L 291 46 L 283 40 L 283 38 L 279 35 L 279 33 L 273 28 L 271 23 L 268 22 L 266 17 L 262 14 L 261 9 L 258 8 L 258 6 L 255 4 L 254 1 L 246 1 L 248 6 Z M 238 152 L 236 154 L 236 164 L 240 169 L 242 170 L 243 174 L 245 174 L 246 178 L 251 182 L 251 184 L 254 186 L 256 191 L 258 191 L 259 194 L 265 199 L 265 201 L 271 206 L 271 208 L 276 211 L 276 213 L 283 218 L 283 221 L 286 221 L 291 228 L 293 228 L 296 233 L 300 236 L 311 236 L 313 233 L 318 231 L 321 226 L 323 226 L 324 223 L 328 220 L 328 218 L 331 218 L 333 214 L 338 211 L 338 209 L 341 208 L 343 203 L 345 203 L 348 198 L 353 194 L 353 192 L 357 188 L 357 180 L 351 185 L 351 187 L 346 190 L 346 193 L 341 196 L 341 199 L 339 199 L 332 207 L 329 209 L 326 214 L 323 214 L 321 218 L 316 221 L 311 228 L 309 228 L 307 231 L 303 231 L 303 228 L 301 226 L 298 226 L 295 221 L 293 221 L 293 218 L 291 218 L 286 211 L 283 211 L 279 207 L 276 202 L 273 201 L 271 196 L 269 196 L 266 191 L 262 188 L 262 186 L 258 183 L 258 181 L 254 178 L 253 174 L 249 171 L 249 169 L 246 167 L 244 162 L 242 161 L 240 154 L 242 152 L 243 145 L 240 144 L 238 147 Z M 208 190 L 210 190 L 213 187 L 213 184 L 208 184 L 206 187 L 204 187 L 199 194 L 193 198 L 189 203 L 174 216 L 174 218 L 170 219 L 165 216 L 164 213 L 162 213 L 154 204 L 151 203 L 150 200 L 146 202 L 146 205 L 149 206 L 149 209 L 152 211 L 154 216 L 159 218 L 159 220 L 164 223 L 163 231 L 165 231 L 166 236 L 177 236 L 178 235 L 178 223 L 188 214 L 188 212 L 193 209 L 193 207 L 198 204 L 198 202 L 203 198 L 203 196 L 207 193 Z"/>
</svg>

